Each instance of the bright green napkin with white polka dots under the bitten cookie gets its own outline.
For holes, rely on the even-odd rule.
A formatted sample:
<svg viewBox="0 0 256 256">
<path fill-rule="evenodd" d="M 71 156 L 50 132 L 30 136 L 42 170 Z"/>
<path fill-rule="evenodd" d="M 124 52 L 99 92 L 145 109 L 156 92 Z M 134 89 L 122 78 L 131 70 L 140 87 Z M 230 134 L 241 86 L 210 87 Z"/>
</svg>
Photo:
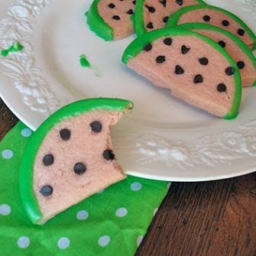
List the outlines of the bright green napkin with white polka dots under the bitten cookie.
<svg viewBox="0 0 256 256">
<path fill-rule="evenodd" d="M 31 130 L 21 122 L 0 144 L 0 255 L 134 255 L 170 183 L 128 177 L 44 226 L 25 215 L 18 170 Z"/>
</svg>

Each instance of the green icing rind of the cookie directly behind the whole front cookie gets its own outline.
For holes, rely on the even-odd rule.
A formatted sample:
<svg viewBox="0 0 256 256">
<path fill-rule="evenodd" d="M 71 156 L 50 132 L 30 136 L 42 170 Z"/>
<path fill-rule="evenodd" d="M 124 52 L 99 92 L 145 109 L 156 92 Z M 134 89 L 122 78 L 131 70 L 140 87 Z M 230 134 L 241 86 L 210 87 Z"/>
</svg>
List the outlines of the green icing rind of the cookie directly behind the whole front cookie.
<svg viewBox="0 0 256 256">
<path fill-rule="evenodd" d="M 186 29 L 186 30 L 209 30 L 209 31 L 216 31 L 219 32 L 220 34 L 224 34 L 225 36 L 229 37 L 235 44 L 238 45 L 238 47 L 241 48 L 241 50 L 243 50 L 243 52 L 248 56 L 248 58 L 251 60 L 254 69 L 256 70 L 256 57 L 254 57 L 254 54 L 251 52 L 251 49 L 247 46 L 247 44 L 245 44 L 244 41 L 242 41 L 239 37 L 235 36 L 235 34 L 232 34 L 229 31 L 225 31 L 222 28 L 219 27 L 215 27 L 209 24 L 203 24 L 203 23 L 184 23 L 184 24 L 180 24 L 177 26 L 177 28 L 182 28 L 182 29 Z M 196 31 L 196 33 L 199 33 Z M 255 86 L 256 85 L 256 81 L 251 85 L 251 86 Z"/>
</svg>

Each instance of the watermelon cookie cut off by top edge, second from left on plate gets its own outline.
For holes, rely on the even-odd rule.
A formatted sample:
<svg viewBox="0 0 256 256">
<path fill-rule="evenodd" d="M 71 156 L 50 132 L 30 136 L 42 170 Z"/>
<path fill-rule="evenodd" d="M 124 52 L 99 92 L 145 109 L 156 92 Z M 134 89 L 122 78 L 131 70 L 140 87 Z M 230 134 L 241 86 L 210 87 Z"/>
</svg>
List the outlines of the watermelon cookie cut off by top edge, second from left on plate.
<svg viewBox="0 0 256 256">
<path fill-rule="evenodd" d="M 188 5 L 202 4 L 202 0 L 137 0 L 134 15 L 135 31 L 140 36 L 164 28 L 173 12 Z"/>
</svg>

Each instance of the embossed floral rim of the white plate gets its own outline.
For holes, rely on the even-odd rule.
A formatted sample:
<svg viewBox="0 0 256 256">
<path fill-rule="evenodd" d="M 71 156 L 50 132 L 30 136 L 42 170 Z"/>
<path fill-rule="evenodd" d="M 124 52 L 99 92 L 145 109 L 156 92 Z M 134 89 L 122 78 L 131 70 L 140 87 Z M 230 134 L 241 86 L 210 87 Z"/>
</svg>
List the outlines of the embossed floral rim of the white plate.
<svg viewBox="0 0 256 256">
<path fill-rule="evenodd" d="M 0 65 L 5 66 L 7 70 L 5 75 L 12 82 L 10 85 L 8 79 L 3 80 L 8 86 L 0 87 L 0 95 L 11 111 L 31 128 L 35 128 L 35 125 L 31 123 L 31 119 L 24 117 L 24 111 L 29 109 L 33 114 L 31 118 L 37 123 L 40 122 L 40 115 L 47 117 L 63 104 L 51 92 L 44 74 L 35 66 L 33 47 L 28 40 L 33 34 L 34 18 L 40 15 L 44 6 L 51 1 L 53 0 L 16 0 L 8 8 L 7 17 L 0 24 L 1 48 L 7 48 L 13 41 L 20 41 L 26 48 L 26 51 L 11 55 L 7 61 L 0 58 Z M 254 1 L 235 1 L 240 7 L 245 8 L 245 11 L 256 10 Z M 223 5 L 228 2 L 234 3 L 227 0 Z M 255 14 L 251 17 L 256 21 Z M 34 96 L 31 96 L 31 90 Z M 14 99 L 11 98 L 13 92 L 22 94 L 24 102 L 14 104 Z M 256 96 L 256 93 L 254 95 Z M 251 109 L 254 109 L 252 105 Z M 38 113 L 40 115 L 37 115 Z M 230 128 L 221 134 L 204 134 L 194 141 L 187 138 L 185 140 L 183 132 L 179 137 L 175 129 L 171 130 L 170 137 L 163 136 L 162 131 L 154 129 L 146 133 L 131 132 L 130 137 L 125 139 L 122 132 L 117 132 L 115 148 L 127 173 L 138 177 L 170 181 L 205 181 L 237 177 L 256 170 L 256 116 L 245 115 L 244 111 L 239 121 L 232 121 L 232 124 L 235 129 Z M 133 129 L 129 122 L 124 122 L 123 125 L 125 128 Z M 128 146 L 124 147 L 124 144 Z M 203 168 L 209 170 L 204 172 Z"/>
</svg>

